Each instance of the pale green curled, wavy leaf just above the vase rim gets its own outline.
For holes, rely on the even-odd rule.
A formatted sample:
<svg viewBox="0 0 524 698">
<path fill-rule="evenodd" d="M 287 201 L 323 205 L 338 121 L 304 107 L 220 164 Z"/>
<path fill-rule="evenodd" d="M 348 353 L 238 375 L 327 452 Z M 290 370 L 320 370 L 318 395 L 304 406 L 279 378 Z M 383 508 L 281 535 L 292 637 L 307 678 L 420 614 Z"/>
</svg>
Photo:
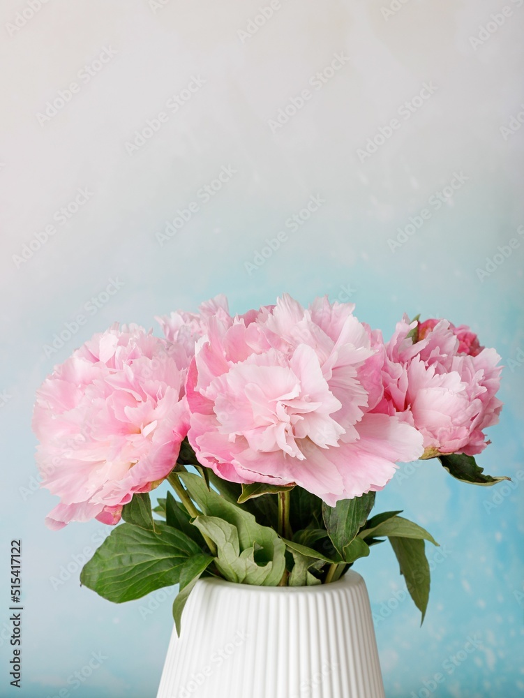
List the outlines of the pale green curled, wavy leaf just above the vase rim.
<svg viewBox="0 0 524 698">
<path fill-rule="evenodd" d="M 247 514 L 250 516 L 250 514 Z M 193 521 L 218 549 L 215 564 L 228 581 L 255 586 L 277 586 L 285 570 L 285 544 L 271 528 L 254 523 L 253 545 L 242 548 L 237 528 L 218 517 Z M 250 524 L 248 523 L 248 526 Z"/>
</svg>

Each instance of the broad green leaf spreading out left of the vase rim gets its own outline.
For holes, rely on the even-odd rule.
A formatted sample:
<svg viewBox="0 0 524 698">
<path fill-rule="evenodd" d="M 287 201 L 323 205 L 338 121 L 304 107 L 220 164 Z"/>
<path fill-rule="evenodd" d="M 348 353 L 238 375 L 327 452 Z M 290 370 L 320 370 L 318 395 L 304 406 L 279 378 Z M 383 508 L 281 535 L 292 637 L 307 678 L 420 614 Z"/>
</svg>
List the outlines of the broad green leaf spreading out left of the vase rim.
<svg viewBox="0 0 524 698">
<path fill-rule="evenodd" d="M 156 522 L 156 530 L 130 523 L 114 528 L 84 565 L 82 584 L 115 603 L 178 584 L 184 563 L 201 554 L 200 547 L 163 521 Z"/>
</svg>

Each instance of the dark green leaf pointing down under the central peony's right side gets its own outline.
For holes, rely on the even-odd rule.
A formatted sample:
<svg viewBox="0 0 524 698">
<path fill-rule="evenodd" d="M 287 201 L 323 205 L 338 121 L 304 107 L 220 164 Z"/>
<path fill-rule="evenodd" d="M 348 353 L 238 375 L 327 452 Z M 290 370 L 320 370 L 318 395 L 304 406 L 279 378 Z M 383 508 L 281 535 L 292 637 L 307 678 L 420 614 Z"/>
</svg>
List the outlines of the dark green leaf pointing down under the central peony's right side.
<svg viewBox="0 0 524 698">
<path fill-rule="evenodd" d="M 329 507 L 325 503 L 322 506 L 327 533 L 343 559 L 345 547 L 352 542 L 359 529 L 366 523 L 374 503 L 375 492 L 368 492 L 361 497 L 340 500 L 335 507 Z"/>
</svg>

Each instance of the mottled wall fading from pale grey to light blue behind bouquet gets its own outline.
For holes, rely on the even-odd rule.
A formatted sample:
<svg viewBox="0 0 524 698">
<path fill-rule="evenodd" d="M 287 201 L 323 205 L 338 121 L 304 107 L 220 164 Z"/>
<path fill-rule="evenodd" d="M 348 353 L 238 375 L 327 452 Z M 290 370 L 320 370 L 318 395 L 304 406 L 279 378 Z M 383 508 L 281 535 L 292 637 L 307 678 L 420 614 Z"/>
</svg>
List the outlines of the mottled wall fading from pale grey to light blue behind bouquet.
<svg viewBox="0 0 524 698">
<path fill-rule="evenodd" d="M 524 470 L 524 366 L 517 362 L 524 357 L 524 239 L 517 232 L 524 128 L 511 121 L 518 112 L 524 119 L 523 4 L 507 0 L 502 14 L 504 0 L 281 0 L 246 38 L 238 31 L 247 31 L 260 0 L 49 0 L 33 17 L 24 1 L 4 0 L 0 625 L 8 617 L 8 545 L 21 537 L 24 688 L 17 695 L 46 698 L 65 688 L 62 695 L 75 698 L 154 696 L 172 625 L 172 595 L 119 607 L 80 588 L 82 555 L 95 549 L 103 526 L 44 527 L 54 498 L 32 491 L 36 388 L 114 320 L 150 327 L 154 315 L 196 309 L 217 292 L 241 312 L 284 291 L 304 303 L 325 293 L 350 299 L 359 318 L 386 334 L 404 311 L 467 322 L 504 364 L 513 360 L 504 371 L 502 421 L 479 462 L 511 475 L 514 489 L 499 487 L 495 501 L 495 490 L 452 481 L 431 461 L 407 472 L 401 466 L 399 473 L 411 474 L 377 496 L 378 509 L 405 510 L 445 553 L 429 551 L 424 626 L 403 600 L 385 545 L 356 569 L 368 584 L 388 698 L 426 695 L 424 681 L 463 657 L 471 636 L 481 646 L 452 664 L 452 674 L 444 669 L 435 695 L 523 695 L 524 482 L 516 475 Z M 26 22 L 13 29 L 22 11 L 18 23 Z M 105 47 L 112 49 L 103 54 L 107 64 L 93 64 Z M 344 65 L 322 89 L 308 84 L 340 53 Z M 93 77 L 85 71 L 91 65 Z M 166 102 L 192 76 L 205 83 L 128 154 L 135 131 L 167 112 Z M 80 91 L 39 123 L 45 103 L 74 81 Z M 402 105 L 424 82 L 437 89 L 407 119 Z M 304 107 L 271 129 L 269 121 L 303 89 L 311 94 Z M 391 138 L 359 157 L 394 118 Z M 501 132 L 511 124 L 514 133 Z M 237 173 L 204 203 L 198 191 L 223 167 Z M 454 173 L 467 179 L 437 210 L 428 202 Z M 77 188 L 92 192 L 89 201 L 65 224 L 55 219 L 57 232 L 29 260 L 13 259 Z M 320 210 L 297 232 L 286 229 L 311 195 L 325 200 Z M 200 210 L 160 246 L 156 232 L 192 201 Z M 393 251 L 388 241 L 424 207 L 431 218 Z M 246 262 L 280 230 L 287 242 L 248 273 Z M 481 281 L 477 269 L 514 237 L 519 246 Z M 85 305 L 110 279 L 123 286 L 89 314 Z M 45 345 L 79 313 L 85 324 L 46 355 Z M 57 584 L 68 566 L 73 574 L 62 573 Z M 0 695 L 15 695 L 0 637 Z M 68 678 L 93 652 L 103 653 L 102 666 L 75 688 Z"/>
</svg>

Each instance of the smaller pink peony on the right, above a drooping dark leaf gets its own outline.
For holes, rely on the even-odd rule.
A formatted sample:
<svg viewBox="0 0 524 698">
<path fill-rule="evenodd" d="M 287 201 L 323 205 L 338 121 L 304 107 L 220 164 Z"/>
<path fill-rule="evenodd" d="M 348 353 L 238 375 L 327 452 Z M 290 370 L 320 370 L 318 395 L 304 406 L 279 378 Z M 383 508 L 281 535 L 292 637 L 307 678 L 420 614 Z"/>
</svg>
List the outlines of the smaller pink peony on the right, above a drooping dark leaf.
<svg viewBox="0 0 524 698">
<path fill-rule="evenodd" d="M 398 415 L 424 436 L 424 457 L 464 453 L 486 447 L 484 429 L 497 424 L 502 409 L 500 356 L 479 345 L 469 327 L 447 320 L 418 325 L 413 342 L 407 316 L 386 345 L 384 396 L 375 412 Z"/>
</svg>

